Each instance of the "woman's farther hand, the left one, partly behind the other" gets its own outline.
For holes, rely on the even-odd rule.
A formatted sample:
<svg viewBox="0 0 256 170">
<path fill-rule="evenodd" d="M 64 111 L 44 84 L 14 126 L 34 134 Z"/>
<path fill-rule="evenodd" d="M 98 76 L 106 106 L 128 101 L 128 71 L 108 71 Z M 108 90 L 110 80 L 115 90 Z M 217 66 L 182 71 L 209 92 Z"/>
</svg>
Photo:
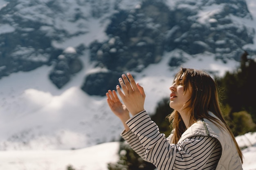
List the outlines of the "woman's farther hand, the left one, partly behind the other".
<svg viewBox="0 0 256 170">
<path fill-rule="evenodd" d="M 127 110 L 126 106 L 120 102 L 116 91 L 108 90 L 106 96 L 108 106 L 117 117 L 123 121 L 130 119 L 129 111 Z"/>
</svg>

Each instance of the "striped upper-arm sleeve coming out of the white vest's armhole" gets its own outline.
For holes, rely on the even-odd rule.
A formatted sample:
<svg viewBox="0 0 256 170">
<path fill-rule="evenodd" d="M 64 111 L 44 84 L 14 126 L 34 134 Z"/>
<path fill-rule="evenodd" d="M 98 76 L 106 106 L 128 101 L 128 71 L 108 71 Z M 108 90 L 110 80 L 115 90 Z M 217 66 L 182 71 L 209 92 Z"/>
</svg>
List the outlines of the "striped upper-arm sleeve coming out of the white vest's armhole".
<svg viewBox="0 0 256 170">
<path fill-rule="evenodd" d="M 175 170 L 214 170 L 221 156 L 220 143 L 209 136 L 193 136 L 176 146 Z"/>
</svg>

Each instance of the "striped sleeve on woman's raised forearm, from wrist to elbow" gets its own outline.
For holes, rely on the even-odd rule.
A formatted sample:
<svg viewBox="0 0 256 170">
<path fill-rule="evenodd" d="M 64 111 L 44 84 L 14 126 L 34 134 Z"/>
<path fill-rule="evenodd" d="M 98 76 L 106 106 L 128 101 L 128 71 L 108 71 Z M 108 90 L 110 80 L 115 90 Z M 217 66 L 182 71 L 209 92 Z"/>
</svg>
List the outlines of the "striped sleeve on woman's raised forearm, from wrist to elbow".
<svg viewBox="0 0 256 170">
<path fill-rule="evenodd" d="M 138 113 L 126 124 L 144 147 L 147 161 L 153 163 L 159 170 L 173 168 L 176 146 L 169 144 L 165 135 L 159 132 L 157 125 L 150 119 L 146 111 Z"/>
</svg>

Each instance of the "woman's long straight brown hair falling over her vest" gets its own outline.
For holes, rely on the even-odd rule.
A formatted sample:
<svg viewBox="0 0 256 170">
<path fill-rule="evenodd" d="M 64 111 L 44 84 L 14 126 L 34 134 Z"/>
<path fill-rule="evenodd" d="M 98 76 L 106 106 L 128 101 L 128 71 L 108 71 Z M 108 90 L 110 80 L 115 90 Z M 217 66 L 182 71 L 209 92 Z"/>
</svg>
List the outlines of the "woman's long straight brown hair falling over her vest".
<svg viewBox="0 0 256 170">
<path fill-rule="evenodd" d="M 181 68 L 175 75 L 174 80 L 180 79 L 181 76 L 183 76 L 182 84 L 184 86 L 184 93 L 186 93 L 188 87 L 192 87 L 191 98 L 186 103 L 185 108 L 190 112 L 189 126 L 198 119 L 205 118 L 212 121 L 219 128 L 226 128 L 236 144 L 236 149 L 243 163 L 242 151 L 221 113 L 216 82 L 204 71 L 191 68 Z M 216 115 L 218 119 L 209 115 L 209 111 Z M 182 133 L 185 132 L 186 126 L 177 110 L 173 110 L 171 115 L 168 116 L 168 119 L 174 129 L 172 143 L 177 144 Z M 223 127 L 223 125 L 225 127 Z"/>
</svg>

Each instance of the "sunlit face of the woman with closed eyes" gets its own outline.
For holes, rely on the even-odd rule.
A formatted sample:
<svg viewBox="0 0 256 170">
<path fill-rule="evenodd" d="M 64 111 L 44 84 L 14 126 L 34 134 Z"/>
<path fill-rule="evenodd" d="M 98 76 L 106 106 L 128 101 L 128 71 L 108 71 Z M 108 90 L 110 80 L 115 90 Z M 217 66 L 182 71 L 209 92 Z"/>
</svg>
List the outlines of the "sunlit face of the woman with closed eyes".
<svg viewBox="0 0 256 170">
<path fill-rule="evenodd" d="M 186 93 L 184 93 L 184 85 L 182 81 L 183 75 L 181 77 L 177 77 L 173 85 L 170 87 L 170 107 L 181 112 L 183 108 L 186 108 L 186 102 L 191 98 L 191 87 L 188 86 Z"/>
</svg>

